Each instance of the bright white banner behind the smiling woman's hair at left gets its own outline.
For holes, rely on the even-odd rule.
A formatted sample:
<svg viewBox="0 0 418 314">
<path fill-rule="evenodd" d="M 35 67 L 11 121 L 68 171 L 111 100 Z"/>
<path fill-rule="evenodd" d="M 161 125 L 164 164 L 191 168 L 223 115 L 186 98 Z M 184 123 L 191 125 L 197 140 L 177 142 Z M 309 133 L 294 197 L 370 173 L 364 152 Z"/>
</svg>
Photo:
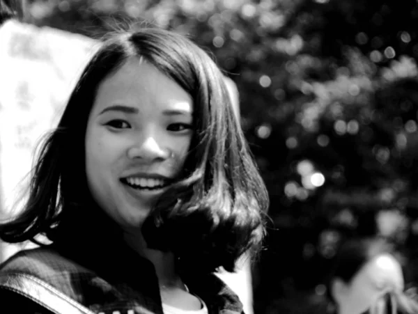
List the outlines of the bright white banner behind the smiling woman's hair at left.
<svg viewBox="0 0 418 314">
<path fill-rule="evenodd" d="M 15 20 L 0 27 L 1 219 L 20 210 L 33 152 L 56 125 L 96 46 L 84 36 Z M 3 245 L 1 260 L 17 249 Z"/>
</svg>

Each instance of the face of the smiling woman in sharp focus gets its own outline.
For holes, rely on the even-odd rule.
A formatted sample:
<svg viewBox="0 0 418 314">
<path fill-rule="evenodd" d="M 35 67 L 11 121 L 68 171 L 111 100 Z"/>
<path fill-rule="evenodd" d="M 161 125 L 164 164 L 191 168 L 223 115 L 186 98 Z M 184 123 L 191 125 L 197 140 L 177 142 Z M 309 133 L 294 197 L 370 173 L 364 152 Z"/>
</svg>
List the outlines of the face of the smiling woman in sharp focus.
<svg viewBox="0 0 418 314">
<path fill-rule="evenodd" d="M 189 94 L 139 58 L 100 84 L 86 129 L 86 176 L 93 199 L 123 228 L 141 226 L 182 170 L 192 111 Z"/>
</svg>

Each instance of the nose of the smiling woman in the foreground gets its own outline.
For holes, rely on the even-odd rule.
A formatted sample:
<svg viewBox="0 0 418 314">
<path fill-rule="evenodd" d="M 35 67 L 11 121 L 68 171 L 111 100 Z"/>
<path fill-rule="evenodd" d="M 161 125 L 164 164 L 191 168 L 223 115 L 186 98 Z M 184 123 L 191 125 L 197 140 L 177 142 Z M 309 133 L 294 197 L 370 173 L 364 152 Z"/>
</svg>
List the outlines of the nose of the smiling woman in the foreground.
<svg viewBox="0 0 418 314">
<path fill-rule="evenodd" d="M 127 157 L 130 159 L 144 159 L 152 161 L 155 159 L 164 160 L 169 158 L 169 148 L 159 144 L 153 136 L 148 136 L 142 143 L 133 145 L 127 150 Z"/>
</svg>

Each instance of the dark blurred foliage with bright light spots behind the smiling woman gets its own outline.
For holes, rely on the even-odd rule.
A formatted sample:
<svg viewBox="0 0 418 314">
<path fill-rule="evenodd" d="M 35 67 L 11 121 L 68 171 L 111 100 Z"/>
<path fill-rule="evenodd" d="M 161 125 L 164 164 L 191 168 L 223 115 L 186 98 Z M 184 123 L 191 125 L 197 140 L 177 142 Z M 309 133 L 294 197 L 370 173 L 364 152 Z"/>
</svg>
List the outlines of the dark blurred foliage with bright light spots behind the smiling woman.
<svg viewBox="0 0 418 314">
<path fill-rule="evenodd" d="M 353 235 L 393 240 L 417 280 L 417 1 L 38 0 L 28 13 L 92 37 L 130 19 L 173 29 L 235 81 L 271 202 L 256 313 L 320 299 Z"/>
</svg>

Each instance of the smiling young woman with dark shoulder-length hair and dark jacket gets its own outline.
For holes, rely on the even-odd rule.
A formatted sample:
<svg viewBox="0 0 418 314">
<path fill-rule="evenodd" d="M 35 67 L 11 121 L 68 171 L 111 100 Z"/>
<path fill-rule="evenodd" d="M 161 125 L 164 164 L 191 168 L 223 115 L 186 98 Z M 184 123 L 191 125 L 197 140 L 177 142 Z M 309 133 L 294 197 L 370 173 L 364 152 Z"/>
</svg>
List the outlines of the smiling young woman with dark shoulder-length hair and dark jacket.
<svg viewBox="0 0 418 314">
<path fill-rule="evenodd" d="M 3 263 L 2 306 L 241 313 L 213 272 L 258 249 L 267 206 L 208 54 L 169 31 L 118 33 L 43 143 L 24 211 L 0 225 L 6 242 L 51 243 Z"/>
</svg>

